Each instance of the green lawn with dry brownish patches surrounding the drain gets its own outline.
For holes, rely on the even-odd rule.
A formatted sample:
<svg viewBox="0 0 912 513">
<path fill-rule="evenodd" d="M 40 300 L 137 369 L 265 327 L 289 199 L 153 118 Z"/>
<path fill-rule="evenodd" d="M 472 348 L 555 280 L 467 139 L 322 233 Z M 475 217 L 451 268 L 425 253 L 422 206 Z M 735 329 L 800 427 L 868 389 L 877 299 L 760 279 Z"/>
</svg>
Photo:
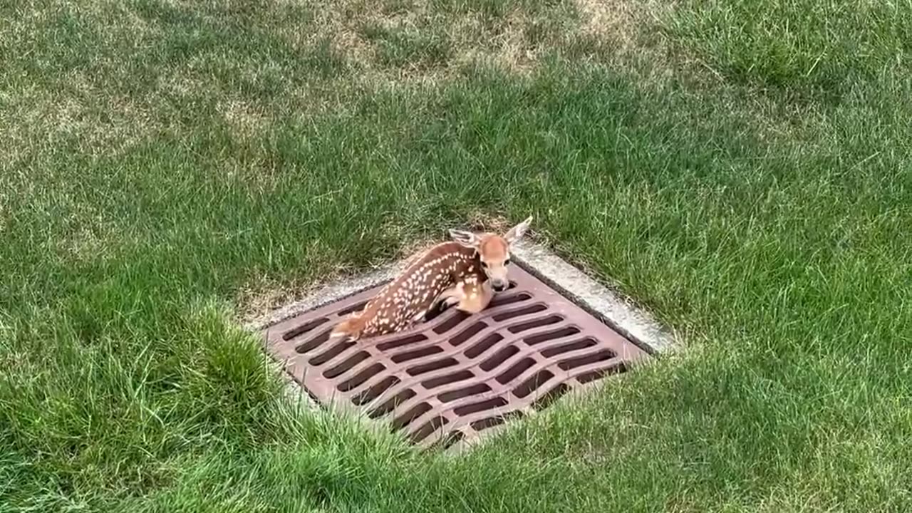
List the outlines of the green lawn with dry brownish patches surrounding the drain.
<svg viewBox="0 0 912 513">
<path fill-rule="evenodd" d="M 388 4 L 0 6 L 0 511 L 912 507 L 909 5 Z M 479 212 L 686 351 L 459 457 L 279 399 L 242 312 Z"/>
</svg>

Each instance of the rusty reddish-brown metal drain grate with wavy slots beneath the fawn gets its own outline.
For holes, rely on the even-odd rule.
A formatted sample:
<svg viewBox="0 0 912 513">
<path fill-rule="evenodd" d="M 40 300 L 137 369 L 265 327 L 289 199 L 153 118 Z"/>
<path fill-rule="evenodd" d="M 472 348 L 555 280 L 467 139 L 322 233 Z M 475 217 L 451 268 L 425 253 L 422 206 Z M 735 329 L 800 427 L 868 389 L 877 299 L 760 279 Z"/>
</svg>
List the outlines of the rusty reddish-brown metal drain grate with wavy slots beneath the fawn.
<svg viewBox="0 0 912 513">
<path fill-rule="evenodd" d="M 263 331 L 268 350 L 317 402 L 387 419 L 419 445 L 471 440 L 513 416 L 623 372 L 647 353 L 520 266 L 482 313 L 455 309 L 412 330 L 328 343 L 371 288 Z"/>
</svg>

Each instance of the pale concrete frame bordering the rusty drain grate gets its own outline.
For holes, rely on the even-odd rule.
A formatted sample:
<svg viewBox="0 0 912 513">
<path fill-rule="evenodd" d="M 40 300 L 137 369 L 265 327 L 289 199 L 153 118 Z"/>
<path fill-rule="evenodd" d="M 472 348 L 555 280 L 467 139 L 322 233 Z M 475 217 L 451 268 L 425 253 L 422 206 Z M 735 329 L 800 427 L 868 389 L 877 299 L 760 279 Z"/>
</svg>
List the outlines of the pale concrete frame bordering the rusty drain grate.
<svg viewBox="0 0 912 513">
<path fill-rule="evenodd" d="M 544 246 L 520 240 L 511 247 L 511 257 L 514 262 L 534 277 L 541 279 L 566 298 L 570 298 L 650 354 L 662 354 L 679 346 L 674 335 L 663 329 L 648 312 L 637 309 L 594 278 L 573 267 L 563 258 L 554 255 Z M 397 277 L 405 266 L 406 260 L 401 260 L 357 277 L 339 280 L 304 299 L 246 323 L 244 328 L 252 332 L 265 330 L 285 319 L 318 309 L 368 288 L 377 287 Z M 266 355 L 266 359 L 271 361 L 277 370 L 281 368 L 279 362 L 274 361 L 268 355 Z M 282 373 L 285 374 L 285 372 Z M 285 374 L 285 380 L 289 385 L 286 390 L 289 399 L 304 398 L 304 405 L 307 409 L 317 407 L 316 401 L 287 374 Z"/>
</svg>

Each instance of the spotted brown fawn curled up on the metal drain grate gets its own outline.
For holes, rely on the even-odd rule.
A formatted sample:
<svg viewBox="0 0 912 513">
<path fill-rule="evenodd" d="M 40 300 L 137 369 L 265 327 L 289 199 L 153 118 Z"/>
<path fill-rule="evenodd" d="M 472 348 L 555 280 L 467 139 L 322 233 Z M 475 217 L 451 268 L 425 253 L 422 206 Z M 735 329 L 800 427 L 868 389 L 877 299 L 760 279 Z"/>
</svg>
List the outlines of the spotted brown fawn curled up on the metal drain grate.
<svg viewBox="0 0 912 513">
<path fill-rule="evenodd" d="M 530 223 L 532 216 L 503 236 L 450 230 L 453 240 L 431 247 L 414 260 L 363 310 L 339 322 L 329 337 L 358 340 L 404 330 L 439 306 L 455 306 L 466 313 L 482 311 L 494 292 L 509 287 L 510 245 Z"/>
</svg>

